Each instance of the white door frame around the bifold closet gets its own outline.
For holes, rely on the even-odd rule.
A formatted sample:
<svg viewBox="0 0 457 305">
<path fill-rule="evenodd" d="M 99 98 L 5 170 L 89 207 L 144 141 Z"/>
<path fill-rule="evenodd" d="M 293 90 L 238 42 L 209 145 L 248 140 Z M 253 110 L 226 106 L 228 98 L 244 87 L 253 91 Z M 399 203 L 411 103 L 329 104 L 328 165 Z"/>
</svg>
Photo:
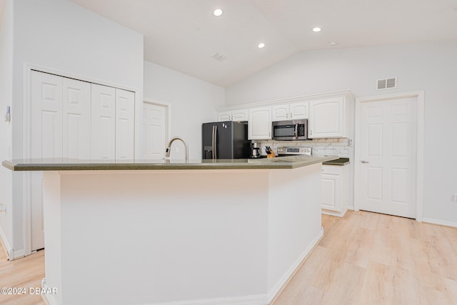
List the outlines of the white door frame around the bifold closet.
<svg viewBox="0 0 457 305">
<path fill-rule="evenodd" d="M 141 131 L 141 112 L 139 112 L 139 104 L 141 103 L 142 97 L 140 97 L 140 90 L 131 88 L 129 86 L 123 86 L 121 84 L 114 84 L 109 81 L 101 81 L 100 79 L 94 79 L 88 76 L 81 76 L 79 74 L 72 74 L 67 71 L 61 71 L 58 69 L 49 68 L 46 66 L 39 66 L 24 62 L 23 69 L 23 99 L 22 99 L 22 157 L 29 159 L 31 156 L 31 71 L 39 71 L 47 74 L 54 74 L 56 76 L 62 76 L 69 79 L 76 79 L 78 81 L 86 81 L 93 84 L 100 84 L 104 86 L 110 86 L 114 88 L 124 89 L 132 91 L 135 94 L 135 156 L 139 157 L 139 137 Z M 141 104 L 142 106 L 142 104 Z M 141 109 L 143 109 L 141 107 Z M 24 206 L 24 253 L 21 256 L 28 256 L 32 253 L 31 251 L 31 173 L 30 171 L 24 171 L 22 173 L 22 196 Z M 17 258 L 20 256 L 15 256 Z"/>
</svg>

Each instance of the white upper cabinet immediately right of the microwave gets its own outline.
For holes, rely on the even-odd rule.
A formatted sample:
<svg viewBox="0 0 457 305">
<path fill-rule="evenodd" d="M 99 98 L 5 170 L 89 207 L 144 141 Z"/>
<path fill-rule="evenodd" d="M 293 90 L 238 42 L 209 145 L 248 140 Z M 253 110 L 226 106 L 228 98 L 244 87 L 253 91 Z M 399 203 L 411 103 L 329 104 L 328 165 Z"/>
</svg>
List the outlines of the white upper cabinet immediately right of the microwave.
<svg viewBox="0 0 457 305">
<path fill-rule="evenodd" d="M 308 138 L 347 138 L 347 104 L 345 96 L 310 101 Z"/>
</svg>

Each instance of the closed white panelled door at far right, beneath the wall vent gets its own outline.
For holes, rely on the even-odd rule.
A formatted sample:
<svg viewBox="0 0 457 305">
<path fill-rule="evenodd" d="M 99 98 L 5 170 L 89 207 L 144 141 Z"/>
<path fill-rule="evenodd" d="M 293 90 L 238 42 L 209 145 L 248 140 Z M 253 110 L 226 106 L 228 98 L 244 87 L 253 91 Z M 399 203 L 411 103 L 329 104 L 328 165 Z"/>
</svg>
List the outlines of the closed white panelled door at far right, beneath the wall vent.
<svg viewBox="0 0 457 305">
<path fill-rule="evenodd" d="M 417 98 L 361 103 L 359 209 L 416 217 Z"/>
</svg>

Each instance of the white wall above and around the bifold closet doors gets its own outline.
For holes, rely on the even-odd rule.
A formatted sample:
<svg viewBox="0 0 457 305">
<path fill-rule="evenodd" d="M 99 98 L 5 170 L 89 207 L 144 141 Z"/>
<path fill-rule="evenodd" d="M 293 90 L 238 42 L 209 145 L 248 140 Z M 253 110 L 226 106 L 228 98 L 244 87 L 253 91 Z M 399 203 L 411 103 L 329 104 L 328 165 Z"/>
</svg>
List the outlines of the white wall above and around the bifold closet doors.
<svg viewBox="0 0 457 305">
<path fill-rule="evenodd" d="M 69 0 L 14 0 L 13 17 L 13 89 L 12 98 L 8 99 L 8 103 L 12 103 L 12 158 L 21 158 L 24 154 L 24 63 L 138 90 L 136 108 L 141 108 L 141 34 Z M 7 45 L 11 48 L 11 41 Z M 139 132 L 136 136 L 139 139 Z M 11 156 L 4 155 L 2 150 L 0 159 L 11 159 Z M 6 215 L 13 219 L 11 246 L 16 251 L 24 248 L 21 179 L 22 174 L 14 173 L 13 210 Z"/>
</svg>

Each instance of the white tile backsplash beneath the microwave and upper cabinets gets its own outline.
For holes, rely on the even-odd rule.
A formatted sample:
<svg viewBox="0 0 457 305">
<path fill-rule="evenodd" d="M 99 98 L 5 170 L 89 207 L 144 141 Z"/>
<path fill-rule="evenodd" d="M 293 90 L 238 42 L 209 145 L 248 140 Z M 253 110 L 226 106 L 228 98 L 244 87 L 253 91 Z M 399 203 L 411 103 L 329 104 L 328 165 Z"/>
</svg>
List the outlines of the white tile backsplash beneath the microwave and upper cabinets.
<svg viewBox="0 0 457 305">
<path fill-rule="evenodd" d="M 265 146 L 271 146 L 273 151 L 277 152 L 277 148 L 281 146 L 303 146 L 311 147 L 313 155 L 336 155 L 341 157 L 349 157 L 349 139 L 313 139 L 307 141 L 273 141 L 273 140 L 258 140 L 251 141 L 261 145 L 261 155 L 266 155 Z"/>
</svg>

